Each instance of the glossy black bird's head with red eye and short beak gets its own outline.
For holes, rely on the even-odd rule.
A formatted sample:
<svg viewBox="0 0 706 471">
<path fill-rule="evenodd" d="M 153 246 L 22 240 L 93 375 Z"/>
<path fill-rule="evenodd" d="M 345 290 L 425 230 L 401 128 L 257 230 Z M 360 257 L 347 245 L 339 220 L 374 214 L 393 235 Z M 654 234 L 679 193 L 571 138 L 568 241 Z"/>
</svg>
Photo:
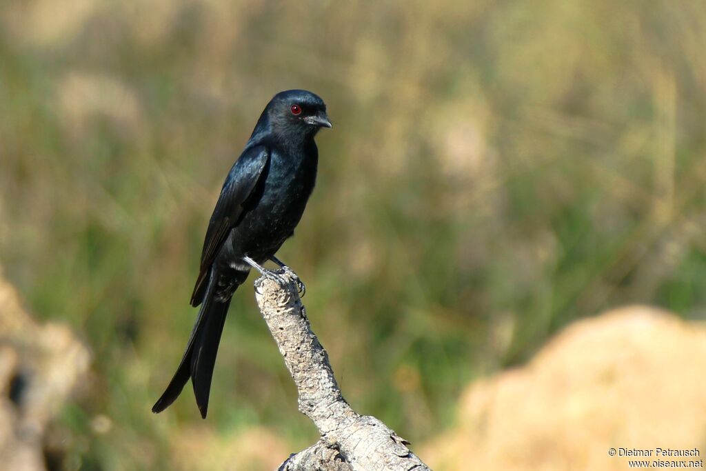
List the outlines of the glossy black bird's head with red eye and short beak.
<svg viewBox="0 0 706 471">
<path fill-rule="evenodd" d="M 330 128 L 326 104 L 321 97 L 306 90 L 280 92 L 268 105 L 270 124 L 280 133 L 315 135 L 321 128 Z"/>
</svg>

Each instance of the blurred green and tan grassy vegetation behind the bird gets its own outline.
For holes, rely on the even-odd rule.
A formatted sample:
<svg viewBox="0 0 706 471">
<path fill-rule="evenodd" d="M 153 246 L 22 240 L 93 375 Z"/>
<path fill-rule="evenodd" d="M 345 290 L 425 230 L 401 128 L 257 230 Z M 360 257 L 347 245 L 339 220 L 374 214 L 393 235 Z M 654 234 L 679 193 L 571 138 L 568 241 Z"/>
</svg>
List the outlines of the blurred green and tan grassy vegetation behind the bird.
<svg viewBox="0 0 706 471">
<path fill-rule="evenodd" d="M 316 439 L 250 285 L 207 422 L 190 390 L 150 412 L 222 180 L 287 88 L 334 128 L 279 256 L 346 398 L 413 443 L 576 318 L 705 318 L 705 45 L 700 0 L 5 2 L 0 263 L 94 355 L 66 468 L 175 469 L 185 429 Z"/>
</svg>

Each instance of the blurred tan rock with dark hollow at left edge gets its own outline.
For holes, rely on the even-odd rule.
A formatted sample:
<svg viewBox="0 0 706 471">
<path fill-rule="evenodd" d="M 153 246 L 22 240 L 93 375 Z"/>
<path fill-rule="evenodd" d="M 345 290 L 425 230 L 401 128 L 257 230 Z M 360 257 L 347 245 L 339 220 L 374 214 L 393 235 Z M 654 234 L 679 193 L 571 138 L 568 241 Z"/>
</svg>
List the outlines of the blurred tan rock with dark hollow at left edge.
<svg viewBox="0 0 706 471">
<path fill-rule="evenodd" d="M 90 354 L 71 330 L 32 320 L 0 278 L 0 456 L 2 469 L 45 470 L 47 424 L 78 380 Z"/>
</svg>

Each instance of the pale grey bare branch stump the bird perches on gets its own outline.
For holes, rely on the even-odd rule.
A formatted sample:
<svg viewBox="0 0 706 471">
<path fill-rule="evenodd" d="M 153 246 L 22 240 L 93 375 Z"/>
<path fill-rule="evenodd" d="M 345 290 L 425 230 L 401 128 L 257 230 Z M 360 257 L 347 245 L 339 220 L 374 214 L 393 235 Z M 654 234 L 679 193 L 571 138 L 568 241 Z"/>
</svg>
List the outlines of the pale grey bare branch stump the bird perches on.
<svg viewBox="0 0 706 471">
<path fill-rule="evenodd" d="M 260 277 L 255 297 L 299 393 L 299 411 L 316 425 L 321 439 L 294 453 L 279 471 L 429 471 L 409 442 L 375 417 L 352 410 L 341 395 L 328 354 L 311 331 L 294 273 L 286 286 Z"/>
</svg>

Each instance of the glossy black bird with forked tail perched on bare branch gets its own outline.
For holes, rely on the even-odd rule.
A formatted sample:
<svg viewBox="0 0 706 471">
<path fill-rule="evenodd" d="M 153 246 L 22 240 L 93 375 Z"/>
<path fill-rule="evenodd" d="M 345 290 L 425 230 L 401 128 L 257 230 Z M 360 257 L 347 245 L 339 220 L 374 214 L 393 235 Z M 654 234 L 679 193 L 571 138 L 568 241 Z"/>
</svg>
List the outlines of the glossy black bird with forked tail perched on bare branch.
<svg viewBox="0 0 706 471">
<path fill-rule="evenodd" d="M 152 412 L 169 407 L 191 378 L 205 419 L 230 300 L 251 267 L 275 280 L 277 274 L 262 267 L 265 261 L 287 269 L 275 253 L 294 234 L 313 190 L 318 165 L 313 138 L 322 127 L 331 127 L 326 105 L 306 90 L 277 93 L 265 107 L 225 179 L 208 223 L 191 295 L 191 305 L 201 304 L 201 309 L 179 368 Z"/>
</svg>

